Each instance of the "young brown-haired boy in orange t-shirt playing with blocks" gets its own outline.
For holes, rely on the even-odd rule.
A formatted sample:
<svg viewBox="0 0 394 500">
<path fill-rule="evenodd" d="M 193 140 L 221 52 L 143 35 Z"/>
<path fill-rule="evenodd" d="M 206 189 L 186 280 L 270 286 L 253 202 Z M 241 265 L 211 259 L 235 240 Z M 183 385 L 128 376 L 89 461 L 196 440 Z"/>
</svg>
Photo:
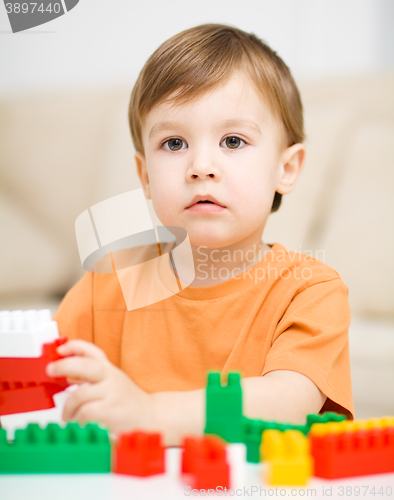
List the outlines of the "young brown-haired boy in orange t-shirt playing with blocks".
<svg viewBox="0 0 394 500">
<path fill-rule="evenodd" d="M 242 373 L 248 417 L 352 418 L 346 285 L 322 262 L 262 242 L 305 159 L 287 66 L 254 35 L 197 26 L 148 59 L 129 118 L 145 196 L 163 225 L 187 231 L 195 278 L 127 311 L 115 273 L 85 274 L 55 316 L 77 340 L 48 374 L 85 382 L 63 417 L 158 429 L 179 444 L 203 430 L 211 369 Z M 171 271 L 158 273 L 165 282 Z"/>
</svg>

